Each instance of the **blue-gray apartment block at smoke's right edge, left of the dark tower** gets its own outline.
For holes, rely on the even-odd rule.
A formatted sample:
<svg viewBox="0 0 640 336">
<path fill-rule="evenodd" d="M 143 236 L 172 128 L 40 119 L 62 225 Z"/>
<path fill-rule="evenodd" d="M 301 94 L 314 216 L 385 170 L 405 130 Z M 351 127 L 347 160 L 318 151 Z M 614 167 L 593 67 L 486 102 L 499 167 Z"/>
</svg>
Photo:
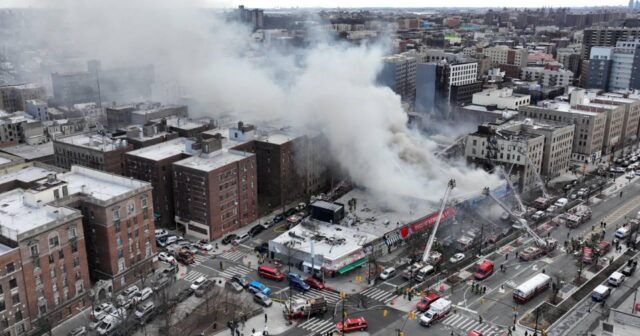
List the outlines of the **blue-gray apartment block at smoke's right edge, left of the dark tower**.
<svg viewBox="0 0 640 336">
<path fill-rule="evenodd" d="M 384 57 L 383 67 L 378 75 L 378 82 L 400 95 L 402 101 L 411 104 L 416 98 L 416 57 L 411 53 Z"/>
</svg>

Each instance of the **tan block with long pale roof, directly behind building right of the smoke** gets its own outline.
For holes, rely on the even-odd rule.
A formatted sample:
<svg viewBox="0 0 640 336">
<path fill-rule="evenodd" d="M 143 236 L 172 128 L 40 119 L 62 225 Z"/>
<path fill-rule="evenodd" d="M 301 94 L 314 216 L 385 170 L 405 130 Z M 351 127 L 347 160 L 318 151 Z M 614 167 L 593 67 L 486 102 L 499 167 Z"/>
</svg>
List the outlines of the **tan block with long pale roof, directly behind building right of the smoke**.
<svg viewBox="0 0 640 336">
<path fill-rule="evenodd" d="M 575 125 L 571 159 L 594 162 L 602 156 L 604 150 L 607 113 L 583 109 L 583 106 L 577 101 L 573 104 L 542 101 L 538 106 L 521 107 L 520 113 L 525 118 Z M 615 132 L 609 132 L 612 133 Z"/>
</svg>

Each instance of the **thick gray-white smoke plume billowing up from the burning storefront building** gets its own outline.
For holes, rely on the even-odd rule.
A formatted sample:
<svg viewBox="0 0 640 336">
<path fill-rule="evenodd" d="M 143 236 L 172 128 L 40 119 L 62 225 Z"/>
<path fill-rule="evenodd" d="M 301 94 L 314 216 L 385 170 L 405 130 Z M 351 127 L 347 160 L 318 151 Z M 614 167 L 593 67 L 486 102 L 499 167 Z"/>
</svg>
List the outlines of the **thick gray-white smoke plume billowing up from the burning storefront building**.
<svg viewBox="0 0 640 336">
<path fill-rule="evenodd" d="M 463 162 L 439 160 L 435 142 L 407 127 L 400 98 L 376 85 L 382 45 L 347 46 L 318 35 L 311 47 L 284 53 L 257 45 L 246 27 L 198 8 L 199 2 L 59 4 L 61 19 L 40 32 L 50 45 L 106 65 L 152 63 L 157 81 L 183 87 L 214 118 L 232 114 L 257 125 L 321 131 L 328 154 L 357 185 L 381 197 L 437 202 L 451 178 L 454 195 L 499 184 Z"/>
</svg>

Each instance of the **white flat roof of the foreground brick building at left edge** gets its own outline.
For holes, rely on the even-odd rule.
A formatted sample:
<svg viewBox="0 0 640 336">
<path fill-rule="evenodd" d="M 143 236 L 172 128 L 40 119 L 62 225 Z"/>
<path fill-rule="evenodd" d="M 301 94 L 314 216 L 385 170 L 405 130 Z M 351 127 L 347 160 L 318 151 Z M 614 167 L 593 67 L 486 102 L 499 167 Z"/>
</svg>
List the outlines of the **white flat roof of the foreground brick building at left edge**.
<svg viewBox="0 0 640 336">
<path fill-rule="evenodd" d="M 2 235 L 18 240 L 18 235 L 69 216 L 76 210 L 52 205 L 30 205 L 25 191 L 14 189 L 0 194 L 0 229 Z"/>
</svg>

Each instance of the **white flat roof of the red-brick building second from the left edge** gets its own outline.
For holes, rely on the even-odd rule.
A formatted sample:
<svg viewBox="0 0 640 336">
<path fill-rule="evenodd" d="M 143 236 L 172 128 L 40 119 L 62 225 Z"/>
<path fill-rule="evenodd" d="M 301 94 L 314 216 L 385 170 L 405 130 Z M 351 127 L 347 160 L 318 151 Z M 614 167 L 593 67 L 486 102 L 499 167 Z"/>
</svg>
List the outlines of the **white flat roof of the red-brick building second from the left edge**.
<svg viewBox="0 0 640 336">
<path fill-rule="evenodd" d="M 59 174 L 58 179 L 68 183 L 70 194 L 82 193 L 100 201 L 109 201 L 151 186 L 147 182 L 82 166 L 72 166 L 70 172 Z"/>
</svg>

